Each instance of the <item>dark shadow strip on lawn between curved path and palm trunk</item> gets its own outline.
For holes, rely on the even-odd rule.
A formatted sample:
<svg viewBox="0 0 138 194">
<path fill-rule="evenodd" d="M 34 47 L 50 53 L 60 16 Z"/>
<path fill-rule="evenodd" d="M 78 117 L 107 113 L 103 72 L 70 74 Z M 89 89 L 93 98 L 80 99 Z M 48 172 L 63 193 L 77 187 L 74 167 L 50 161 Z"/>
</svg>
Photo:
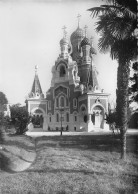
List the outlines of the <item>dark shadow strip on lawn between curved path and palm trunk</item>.
<svg viewBox="0 0 138 194">
<path fill-rule="evenodd" d="M 109 146 L 111 144 L 118 144 L 118 138 L 112 138 L 112 136 L 100 136 L 100 135 L 94 135 L 94 136 L 62 136 L 62 137 L 42 137 L 37 138 L 37 148 L 40 148 L 44 145 L 50 147 L 67 147 L 67 148 L 99 148 L 104 149 L 103 147 Z M 41 143 L 41 141 L 45 141 L 45 143 Z M 49 143 L 50 141 L 50 143 Z M 86 146 L 86 147 L 85 147 Z M 105 149 L 107 150 L 107 148 Z"/>
</svg>

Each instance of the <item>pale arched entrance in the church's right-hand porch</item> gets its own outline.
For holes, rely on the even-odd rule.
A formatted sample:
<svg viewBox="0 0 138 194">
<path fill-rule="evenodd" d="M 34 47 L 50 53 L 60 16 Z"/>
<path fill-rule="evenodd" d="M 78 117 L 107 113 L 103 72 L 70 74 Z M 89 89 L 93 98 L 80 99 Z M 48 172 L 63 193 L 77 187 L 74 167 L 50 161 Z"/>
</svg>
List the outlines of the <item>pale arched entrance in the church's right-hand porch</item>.
<svg viewBox="0 0 138 194">
<path fill-rule="evenodd" d="M 103 128 L 104 111 L 101 106 L 95 106 L 92 114 L 92 122 L 95 128 Z"/>
</svg>

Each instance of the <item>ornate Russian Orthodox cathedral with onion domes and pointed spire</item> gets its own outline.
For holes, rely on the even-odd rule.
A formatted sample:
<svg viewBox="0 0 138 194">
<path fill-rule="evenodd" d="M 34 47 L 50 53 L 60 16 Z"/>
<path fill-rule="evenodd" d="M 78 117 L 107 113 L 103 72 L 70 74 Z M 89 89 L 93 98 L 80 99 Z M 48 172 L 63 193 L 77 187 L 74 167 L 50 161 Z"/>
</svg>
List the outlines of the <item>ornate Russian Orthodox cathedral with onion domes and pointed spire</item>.
<svg viewBox="0 0 138 194">
<path fill-rule="evenodd" d="M 78 27 L 70 41 L 64 28 L 60 40 L 60 54 L 52 67 L 51 86 L 46 98 L 41 89 L 37 67 L 32 90 L 26 99 L 34 127 L 44 131 L 93 131 L 108 128 L 108 96 L 100 89 L 95 55 L 86 28 Z"/>
</svg>

